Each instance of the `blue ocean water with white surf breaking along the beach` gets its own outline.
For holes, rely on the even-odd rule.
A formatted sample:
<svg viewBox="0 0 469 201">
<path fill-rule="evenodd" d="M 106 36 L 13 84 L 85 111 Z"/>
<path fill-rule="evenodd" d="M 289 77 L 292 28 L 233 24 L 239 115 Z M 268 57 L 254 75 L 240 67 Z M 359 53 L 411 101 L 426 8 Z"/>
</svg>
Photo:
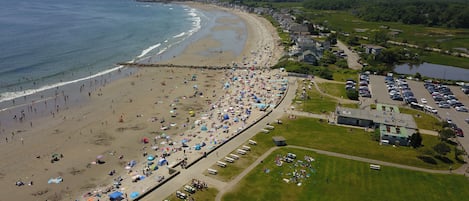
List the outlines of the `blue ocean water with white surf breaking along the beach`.
<svg viewBox="0 0 469 201">
<path fill-rule="evenodd" d="M 0 103 L 102 76 L 118 62 L 177 54 L 176 44 L 210 24 L 178 4 L 0 0 Z"/>
</svg>

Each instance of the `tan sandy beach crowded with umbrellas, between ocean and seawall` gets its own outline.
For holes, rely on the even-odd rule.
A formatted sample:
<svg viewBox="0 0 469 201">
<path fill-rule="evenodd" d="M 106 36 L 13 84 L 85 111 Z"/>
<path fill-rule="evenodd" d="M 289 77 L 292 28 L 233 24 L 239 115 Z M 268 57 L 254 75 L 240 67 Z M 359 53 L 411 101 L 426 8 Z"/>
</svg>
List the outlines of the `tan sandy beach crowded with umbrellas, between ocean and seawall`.
<svg viewBox="0 0 469 201">
<path fill-rule="evenodd" d="M 235 20 L 242 20 L 247 28 L 246 45 L 241 55 L 202 55 L 199 53 L 219 45 L 216 39 L 204 37 L 167 63 L 269 66 L 280 58 L 276 30 L 265 19 L 212 5 L 190 6 L 222 9 L 238 16 Z M 220 19 L 224 25 L 213 31 L 232 29 L 230 20 L 234 19 Z M 142 193 L 159 176 L 168 176 L 164 165 L 144 171 L 148 156 L 155 157 L 154 163 L 164 158 L 171 165 L 184 157 L 194 160 L 222 143 L 262 114 L 253 95 L 265 105 L 278 100 L 275 91 L 280 82 L 271 80 L 282 78 L 275 74 L 270 70 L 140 68 L 85 94 L 86 104 L 57 108 L 53 115 L 36 119 L 34 125 L 23 122 L 6 128 L 6 133 L 13 133 L 8 142 L 2 139 L 0 146 L 0 201 L 89 200 L 98 196 L 107 200 L 105 191 L 111 190 L 113 179 L 119 176 L 123 180 L 118 190 L 129 195 Z M 205 146 L 195 150 L 203 143 Z M 51 161 L 54 154 L 57 160 Z M 132 160 L 136 164 L 127 167 Z M 149 177 L 132 182 L 150 172 Z M 55 184 L 51 178 L 63 181 Z M 24 185 L 15 185 L 18 181 Z"/>
</svg>

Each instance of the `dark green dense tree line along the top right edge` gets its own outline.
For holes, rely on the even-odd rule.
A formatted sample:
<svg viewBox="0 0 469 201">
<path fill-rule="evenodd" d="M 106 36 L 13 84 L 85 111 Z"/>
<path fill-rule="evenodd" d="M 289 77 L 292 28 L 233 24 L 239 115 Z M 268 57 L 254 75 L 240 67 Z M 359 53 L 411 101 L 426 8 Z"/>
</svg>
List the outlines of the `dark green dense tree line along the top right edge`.
<svg viewBox="0 0 469 201">
<path fill-rule="evenodd" d="M 468 0 L 307 0 L 303 7 L 348 10 L 366 21 L 469 28 Z"/>
</svg>

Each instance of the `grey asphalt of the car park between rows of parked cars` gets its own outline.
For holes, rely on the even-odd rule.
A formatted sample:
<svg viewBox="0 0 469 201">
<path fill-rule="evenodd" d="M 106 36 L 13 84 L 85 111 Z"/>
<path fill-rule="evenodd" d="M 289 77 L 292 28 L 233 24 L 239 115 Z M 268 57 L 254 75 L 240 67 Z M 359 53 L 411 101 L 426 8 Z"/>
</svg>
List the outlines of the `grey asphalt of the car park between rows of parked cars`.
<svg viewBox="0 0 469 201">
<path fill-rule="evenodd" d="M 469 124 L 465 122 L 465 119 L 469 118 L 469 113 L 458 112 L 453 107 L 440 108 L 438 107 L 438 104 L 433 100 L 432 95 L 424 87 L 424 82 L 417 82 L 413 80 L 406 80 L 406 82 L 408 83 L 410 90 L 414 94 L 414 97 L 416 98 L 419 104 L 428 105 L 438 110 L 435 116 L 439 117 L 442 121 L 446 121 L 446 119 L 451 119 L 453 123 L 455 123 L 459 128 L 463 130 L 466 137 L 458 137 L 458 140 L 461 142 L 464 149 L 469 151 Z M 469 96 L 464 94 L 459 86 L 448 87 L 451 89 L 451 91 L 462 104 L 464 104 L 466 107 L 469 106 Z M 392 100 L 390 98 L 388 88 L 385 83 L 385 76 L 370 75 L 369 88 L 372 94 L 372 98 L 362 99 L 365 102 L 373 103 L 376 100 L 379 103 L 393 104 L 399 106 L 407 105 L 404 101 Z M 422 98 L 426 99 L 426 104 L 423 104 L 421 102 Z"/>
</svg>

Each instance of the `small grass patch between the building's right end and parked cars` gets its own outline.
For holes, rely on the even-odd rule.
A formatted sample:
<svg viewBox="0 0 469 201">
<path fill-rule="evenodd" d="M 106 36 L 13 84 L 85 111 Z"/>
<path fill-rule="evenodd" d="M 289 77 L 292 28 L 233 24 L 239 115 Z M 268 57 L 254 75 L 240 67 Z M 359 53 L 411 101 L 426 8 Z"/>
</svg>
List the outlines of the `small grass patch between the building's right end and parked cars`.
<svg viewBox="0 0 469 201">
<path fill-rule="evenodd" d="M 414 117 L 417 127 L 426 130 L 441 130 L 441 122 L 433 115 L 410 108 L 399 108 L 401 113 L 410 114 Z"/>
</svg>

